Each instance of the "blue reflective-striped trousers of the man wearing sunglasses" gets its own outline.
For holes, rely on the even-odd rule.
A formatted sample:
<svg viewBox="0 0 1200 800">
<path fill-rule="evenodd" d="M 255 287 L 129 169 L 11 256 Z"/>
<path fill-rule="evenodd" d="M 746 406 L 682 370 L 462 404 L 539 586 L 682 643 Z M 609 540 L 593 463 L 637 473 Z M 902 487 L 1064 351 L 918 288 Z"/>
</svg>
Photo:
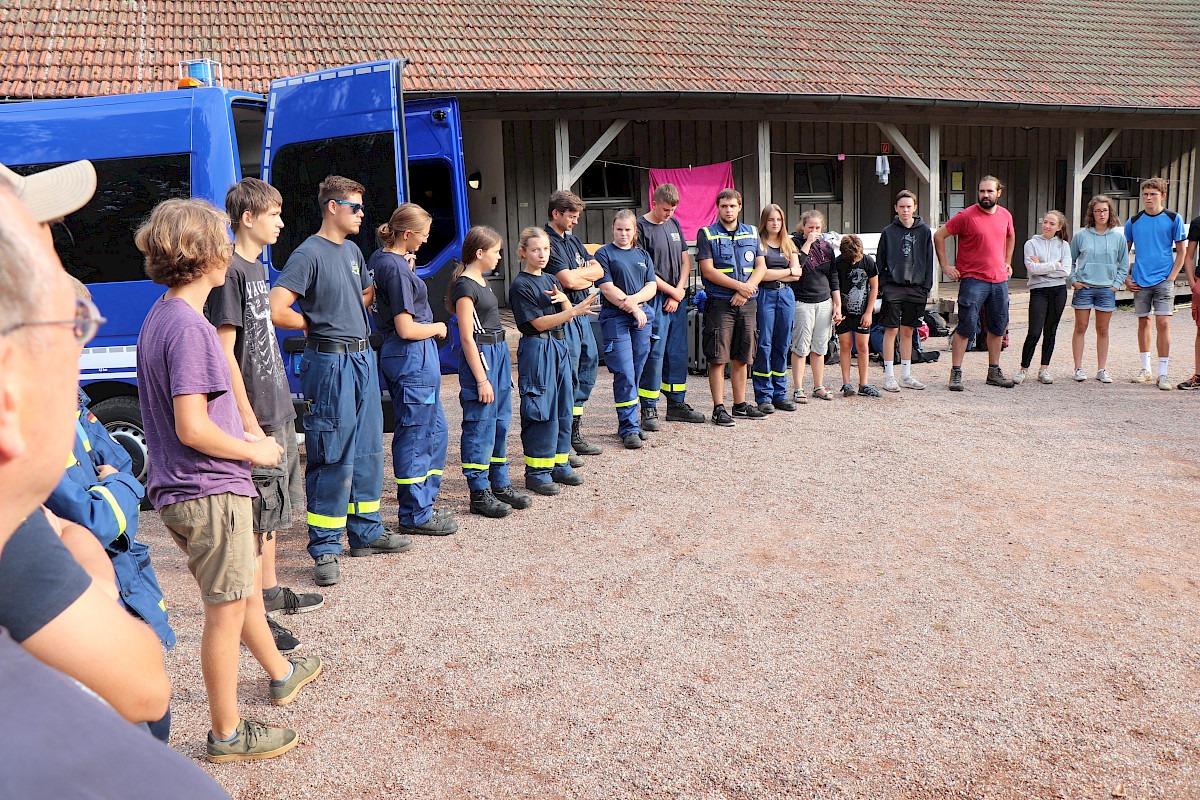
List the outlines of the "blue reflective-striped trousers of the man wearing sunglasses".
<svg viewBox="0 0 1200 800">
<path fill-rule="evenodd" d="M 304 416 L 308 554 L 342 552 L 383 536 L 383 407 L 373 350 L 317 353 L 300 359 L 300 389 L 311 403 Z"/>
</svg>

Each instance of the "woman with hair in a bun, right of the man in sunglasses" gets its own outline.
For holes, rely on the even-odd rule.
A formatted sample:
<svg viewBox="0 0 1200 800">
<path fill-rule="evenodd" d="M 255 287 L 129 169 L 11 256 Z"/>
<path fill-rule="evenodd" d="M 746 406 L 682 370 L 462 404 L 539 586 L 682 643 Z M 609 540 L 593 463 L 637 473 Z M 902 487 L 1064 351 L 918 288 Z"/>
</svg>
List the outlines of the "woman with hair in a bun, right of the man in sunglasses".
<svg viewBox="0 0 1200 800">
<path fill-rule="evenodd" d="M 379 225 L 383 247 L 371 254 L 376 327 L 383 333 L 379 371 L 388 381 L 396 429 L 391 463 L 396 473 L 401 535 L 446 536 L 458 530 L 449 513 L 434 511 L 446 463 L 446 417 L 442 410 L 442 363 L 434 339 L 445 323 L 433 321 L 430 293 L 416 275 L 416 249 L 430 237 L 433 217 L 415 203 L 402 203 Z M 350 555 L 367 555 L 350 548 Z"/>
</svg>

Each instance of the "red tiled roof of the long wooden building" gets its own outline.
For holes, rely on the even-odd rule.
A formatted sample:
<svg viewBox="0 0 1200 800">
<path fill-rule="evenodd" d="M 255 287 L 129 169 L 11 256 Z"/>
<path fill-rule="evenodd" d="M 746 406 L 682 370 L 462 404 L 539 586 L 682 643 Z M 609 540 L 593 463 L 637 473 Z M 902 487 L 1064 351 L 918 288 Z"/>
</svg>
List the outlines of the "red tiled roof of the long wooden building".
<svg viewBox="0 0 1200 800">
<path fill-rule="evenodd" d="M 785 92 L 1200 108 L 1194 0 L 8 0 L 0 96 L 407 55 L 425 92 Z M 1103 13 L 1103 16 L 1100 16 Z"/>
</svg>

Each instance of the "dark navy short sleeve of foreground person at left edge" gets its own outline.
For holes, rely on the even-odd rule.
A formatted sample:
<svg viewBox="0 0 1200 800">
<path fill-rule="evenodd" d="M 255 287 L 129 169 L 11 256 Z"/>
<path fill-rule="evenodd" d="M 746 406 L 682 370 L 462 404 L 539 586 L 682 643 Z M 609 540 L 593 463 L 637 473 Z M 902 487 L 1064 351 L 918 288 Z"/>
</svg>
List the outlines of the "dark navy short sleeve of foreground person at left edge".
<svg viewBox="0 0 1200 800">
<path fill-rule="evenodd" d="M 90 585 L 91 577 L 38 509 L 20 523 L 0 553 L 0 627 L 24 642 L 79 600 Z M 16 718 L 4 712 L 0 717 Z M 0 798 L 7 796 L 0 792 Z"/>
</svg>

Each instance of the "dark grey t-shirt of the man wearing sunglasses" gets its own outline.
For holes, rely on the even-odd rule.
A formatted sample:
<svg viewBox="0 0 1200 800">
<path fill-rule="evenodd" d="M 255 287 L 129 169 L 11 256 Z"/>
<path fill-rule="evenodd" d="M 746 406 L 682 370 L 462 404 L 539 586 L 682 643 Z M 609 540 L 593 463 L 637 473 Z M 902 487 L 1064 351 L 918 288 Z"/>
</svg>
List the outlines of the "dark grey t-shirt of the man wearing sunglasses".
<svg viewBox="0 0 1200 800">
<path fill-rule="evenodd" d="M 354 342 L 371 333 L 362 305 L 371 276 L 362 251 L 349 239 L 335 245 L 317 234 L 308 236 L 288 258 L 275 285 L 300 295 L 310 336 Z"/>
</svg>

